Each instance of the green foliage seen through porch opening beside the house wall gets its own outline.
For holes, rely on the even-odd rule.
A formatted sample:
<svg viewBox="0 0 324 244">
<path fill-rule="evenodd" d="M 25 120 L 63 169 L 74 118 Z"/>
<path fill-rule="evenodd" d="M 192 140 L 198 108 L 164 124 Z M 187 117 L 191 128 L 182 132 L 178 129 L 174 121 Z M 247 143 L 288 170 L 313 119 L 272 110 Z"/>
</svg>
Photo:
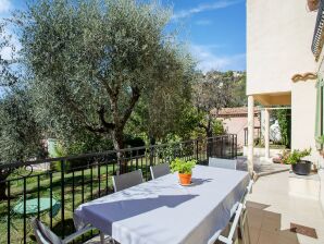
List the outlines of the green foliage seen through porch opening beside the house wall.
<svg viewBox="0 0 324 244">
<path fill-rule="evenodd" d="M 282 144 L 290 148 L 291 114 L 289 109 L 278 109 L 275 114 L 279 123 Z"/>
</svg>

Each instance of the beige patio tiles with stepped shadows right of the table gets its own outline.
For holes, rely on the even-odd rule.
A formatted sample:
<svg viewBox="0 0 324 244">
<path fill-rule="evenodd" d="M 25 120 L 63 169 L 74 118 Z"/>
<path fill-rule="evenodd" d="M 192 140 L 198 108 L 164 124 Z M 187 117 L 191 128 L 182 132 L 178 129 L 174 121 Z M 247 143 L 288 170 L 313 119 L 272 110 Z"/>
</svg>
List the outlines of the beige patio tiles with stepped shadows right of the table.
<svg viewBox="0 0 324 244">
<path fill-rule="evenodd" d="M 288 172 L 262 176 L 256 182 L 249 195 L 248 222 L 251 244 L 324 243 L 320 202 L 289 196 Z"/>
</svg>

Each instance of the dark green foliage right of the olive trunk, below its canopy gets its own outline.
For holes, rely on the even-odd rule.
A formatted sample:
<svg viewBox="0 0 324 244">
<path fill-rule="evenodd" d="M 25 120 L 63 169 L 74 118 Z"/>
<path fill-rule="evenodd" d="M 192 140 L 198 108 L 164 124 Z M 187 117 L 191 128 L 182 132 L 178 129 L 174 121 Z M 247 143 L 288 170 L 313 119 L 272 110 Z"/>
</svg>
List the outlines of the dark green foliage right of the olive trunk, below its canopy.
<svg viewBox="0 0 324 244">
<path fill-rule="evenodd" d="M 170 98 L 161 99 L 157 94 L 154 102 L 140 99 L 127 123 L 126 133 L 141 136 L 150 145 L 165 142 L 171 134 L 183 139 L 190 138 L 198 120 L 189 103 L 190 91 L 184 96 L 172 93 L 170 95 Z M 157 105 L 158 102 L 164 105 Z"/>
</svg>

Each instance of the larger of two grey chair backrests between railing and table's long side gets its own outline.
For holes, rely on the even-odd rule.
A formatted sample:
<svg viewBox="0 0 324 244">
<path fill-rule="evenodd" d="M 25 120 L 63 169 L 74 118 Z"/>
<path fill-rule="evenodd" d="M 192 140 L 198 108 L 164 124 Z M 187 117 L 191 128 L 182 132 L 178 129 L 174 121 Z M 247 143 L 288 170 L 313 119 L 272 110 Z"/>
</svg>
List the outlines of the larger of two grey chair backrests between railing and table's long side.
<svg viewBox="0 0 324 244">
<path fill-rule="evenodd" d="M 141 170 L 136 170 L 129 173 L 114 175 L 112 178 L 113 186 L 115 192 L 120 192 L 125 188 L 129 188 L 134 185 L 142 183 Z"/>
</svg>

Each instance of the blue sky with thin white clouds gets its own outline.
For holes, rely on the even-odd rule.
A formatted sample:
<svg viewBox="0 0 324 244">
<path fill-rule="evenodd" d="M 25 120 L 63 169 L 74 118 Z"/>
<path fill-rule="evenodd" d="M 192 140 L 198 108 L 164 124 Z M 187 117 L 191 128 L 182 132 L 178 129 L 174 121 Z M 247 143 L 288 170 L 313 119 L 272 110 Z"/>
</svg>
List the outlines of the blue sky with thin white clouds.
<svg viewBox="0 0 324 244">
<path fill-rule="evenodd" d="M 177 26 L 198 61 L 209 70 L 246 70 L 245 0 L 161 0 L 173 5 L 171 26 Z M 0 17 L 22 9 L 24 0 L 0 0 Z"/>
</svg>

